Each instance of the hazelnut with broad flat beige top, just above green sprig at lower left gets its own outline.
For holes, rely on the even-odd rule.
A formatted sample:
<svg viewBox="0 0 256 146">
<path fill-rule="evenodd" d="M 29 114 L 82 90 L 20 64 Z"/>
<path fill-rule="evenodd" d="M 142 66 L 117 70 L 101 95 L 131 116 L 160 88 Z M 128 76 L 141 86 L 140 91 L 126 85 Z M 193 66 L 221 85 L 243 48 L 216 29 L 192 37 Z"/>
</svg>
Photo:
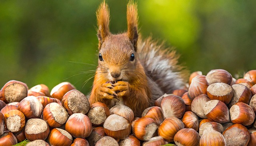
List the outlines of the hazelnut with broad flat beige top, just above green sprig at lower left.
<svg viewBox="0 0 256 146">
<path fill-rule="evenodd" d="M 31 118 L 26 122 L 25 135 L 29 141 L 46 140 L 49 133 L 50 129 L 47 122 L 40 118 Z"/>
</svg>

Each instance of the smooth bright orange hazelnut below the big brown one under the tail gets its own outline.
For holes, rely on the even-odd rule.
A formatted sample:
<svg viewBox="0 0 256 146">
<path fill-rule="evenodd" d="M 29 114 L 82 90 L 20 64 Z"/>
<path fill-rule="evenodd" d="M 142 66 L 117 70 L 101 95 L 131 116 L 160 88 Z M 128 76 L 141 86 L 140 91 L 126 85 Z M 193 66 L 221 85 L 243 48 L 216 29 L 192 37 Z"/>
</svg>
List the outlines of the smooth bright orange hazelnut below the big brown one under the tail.
<svg viewBox="0 0 256 146">
<path fill-rule="evenodd" d="M 173 142 L 174 135 L 184 128 L 183 122 L 175 117 L 166 118 L 158 128 L 158 135 L 162 136 L 165 141 Z"/>
</svg>

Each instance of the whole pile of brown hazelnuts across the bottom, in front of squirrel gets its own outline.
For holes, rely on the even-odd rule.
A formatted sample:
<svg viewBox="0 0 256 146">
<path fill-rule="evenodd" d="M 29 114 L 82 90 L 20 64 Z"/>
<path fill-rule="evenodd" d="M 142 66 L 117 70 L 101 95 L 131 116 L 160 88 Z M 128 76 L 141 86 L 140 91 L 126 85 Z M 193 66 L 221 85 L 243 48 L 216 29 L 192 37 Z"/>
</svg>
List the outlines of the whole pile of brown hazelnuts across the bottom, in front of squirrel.
<svg viewBox="0 0 256 146">
<path fill-rule="evenodd" d="M 254 146 L 256 70 L 234 79 L 214 69 L 190 75 L 188 88 L 155 101 L 141 117 L 125 105 L 90 105 L 68 82 L 51 92 L 9 81 L 0 90 L 0 145 Z"/>
</svg>

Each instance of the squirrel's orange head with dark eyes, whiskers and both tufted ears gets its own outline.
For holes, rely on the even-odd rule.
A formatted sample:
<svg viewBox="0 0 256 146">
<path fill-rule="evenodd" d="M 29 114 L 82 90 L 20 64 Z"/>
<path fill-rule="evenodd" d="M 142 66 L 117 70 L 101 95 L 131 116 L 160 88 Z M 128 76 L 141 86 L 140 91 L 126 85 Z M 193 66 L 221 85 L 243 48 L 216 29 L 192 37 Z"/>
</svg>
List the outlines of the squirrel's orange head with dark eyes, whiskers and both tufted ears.
<svg viewBox="0 0 256 146">
<path fill-rule="evenodd" d="M 137 6 L 132 1 L 127 5 L 127 32 L 111 34 L 109 31 L 109 9 L 104 2 L 97 12 L 99 61 L 98 71 L 108 81 L 128 81 L 139 64 L 137 51 L 138 14 Z M 134 70 L 134 72 L 132 72 Z M 135 73 L 136 74 L 136 73 Z"/>
</svg>

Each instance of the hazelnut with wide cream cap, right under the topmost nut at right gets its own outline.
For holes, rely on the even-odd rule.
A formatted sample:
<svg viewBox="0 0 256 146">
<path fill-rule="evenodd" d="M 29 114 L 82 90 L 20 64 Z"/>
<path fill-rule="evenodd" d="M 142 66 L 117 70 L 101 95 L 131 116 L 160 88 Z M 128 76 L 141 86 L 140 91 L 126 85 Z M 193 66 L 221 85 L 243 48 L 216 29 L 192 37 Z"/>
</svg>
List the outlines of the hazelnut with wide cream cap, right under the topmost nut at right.
<svg viewBox="0 0 256 146">
<path fill-rule="evenodd" d="M 207 95 L 211 100 L 219 100 L 228 104 L 233 97 L 233 88 L 226 83 L 213 83 L 207 88 Z"/>
</svg>

